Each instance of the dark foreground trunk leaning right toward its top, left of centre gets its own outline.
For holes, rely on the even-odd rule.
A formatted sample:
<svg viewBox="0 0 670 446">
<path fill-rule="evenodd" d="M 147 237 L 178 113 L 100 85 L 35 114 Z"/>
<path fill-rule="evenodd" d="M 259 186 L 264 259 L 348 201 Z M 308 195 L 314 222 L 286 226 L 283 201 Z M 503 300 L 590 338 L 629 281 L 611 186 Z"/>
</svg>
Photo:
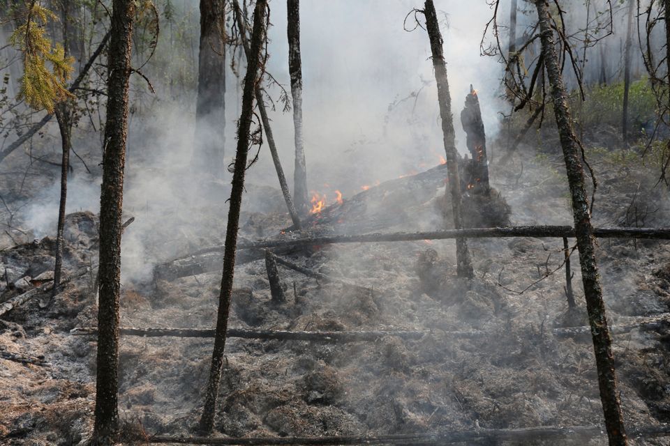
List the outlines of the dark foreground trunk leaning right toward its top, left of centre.
<svg viewBox="0 0 670 446">
<path fill-rule="evenodd" d="M 235 266 L 235 249 L 237 247 L 237 230 L 239 229 L 239 210 L 242 204 L 244 191 L 244 172 L 248 155 L 249 132 L 253 115 L 253 97 L 258 71 L 260 55 L 265 42 L 265 17 L 267 0 L 256 1 L 253 13 L 253 31 L 251 34 L 251 48 L 247 58 L 246 75 L 244 77 L 244 91 L 242 92 L 242 109 L 237 128 L 237 155 L 235 156 L 234 171 L 232 174 L 232 190 L 230 192 L 230 210 L 228 210 L 228 226 L 225 231 L 225 247 L 223 249 L 223 275 L 221 277 L 221 293 L 218 301 L 216 319 L 216 335 L 214 337 L 214 352 L 211 356 L 209 382 L 204 401 L 204 410 L 200 418 L 200 431 L 211 433 L 214 429 L 214 414 L 218 397 L 218 383 L 221 380 L 223 367 L 223 351 L 225 348 L 225 334 L 228 330 L 228 313 L 230 312 L 230 297 L 232 295 L 232 279 Z"/>
</svg>

